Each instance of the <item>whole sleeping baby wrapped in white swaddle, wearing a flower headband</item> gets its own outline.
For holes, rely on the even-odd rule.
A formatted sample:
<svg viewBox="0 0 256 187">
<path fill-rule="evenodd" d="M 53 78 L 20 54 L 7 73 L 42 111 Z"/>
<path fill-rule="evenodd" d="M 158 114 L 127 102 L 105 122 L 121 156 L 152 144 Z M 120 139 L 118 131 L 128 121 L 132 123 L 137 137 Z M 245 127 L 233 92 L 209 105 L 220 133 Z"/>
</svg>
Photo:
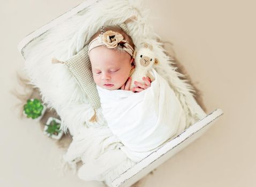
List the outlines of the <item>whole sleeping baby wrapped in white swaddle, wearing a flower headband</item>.
<svg viewBox="0 0 256 187">
<path fill-rule="evenodd" d="M 131 37 L 119 27 L 102 27 L 88 45 L 104 118 L 124 145 L 121 150 L 139 162 L 185 129 L 185 114 L 154 68 L 153 78 L 131 79 L 133 53 Z"/>
</svg>

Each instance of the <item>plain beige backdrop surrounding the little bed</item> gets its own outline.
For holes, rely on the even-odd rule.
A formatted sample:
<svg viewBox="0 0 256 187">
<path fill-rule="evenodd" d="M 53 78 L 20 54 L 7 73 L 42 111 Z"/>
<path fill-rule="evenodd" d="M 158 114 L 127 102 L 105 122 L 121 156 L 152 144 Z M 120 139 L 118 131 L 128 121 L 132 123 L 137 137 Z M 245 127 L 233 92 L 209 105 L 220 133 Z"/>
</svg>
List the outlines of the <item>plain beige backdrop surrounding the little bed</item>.
<svg viewBox="0 0 256 187">
<path fill-rule="evenodd" d="M 18 100 L 10 93 L 20 90 L 16 75 L 24 60 L 18 42 L 81 2 L 1 1 L 0 186 L 103 186 L 70 172 L 59 175 L 64 150 L 38 124 L 18 118 Z M 201 91 L 207 113 L 220 107 L 224 115 L 143 186 L 256 186 L 255 1 L 144 2 L 156 32 L 172 43 L 180 66 Z"/>
</svg>

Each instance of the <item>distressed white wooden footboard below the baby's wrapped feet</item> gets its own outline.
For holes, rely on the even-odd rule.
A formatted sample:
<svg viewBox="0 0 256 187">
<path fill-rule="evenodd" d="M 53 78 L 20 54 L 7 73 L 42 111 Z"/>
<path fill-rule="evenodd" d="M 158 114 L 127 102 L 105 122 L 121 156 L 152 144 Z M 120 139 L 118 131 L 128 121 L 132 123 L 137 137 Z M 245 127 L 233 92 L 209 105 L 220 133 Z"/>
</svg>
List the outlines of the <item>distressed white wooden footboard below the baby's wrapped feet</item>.
<svg viewBox="0 0 256 187">
<path fill-rule="evenodd" d="M 114 181 L 112 181 L 112 185 L 126 187 L 134 184 L 140 180 L 140 178 L 144 177 L 153 169 L 171 158 L 174 154 L 182 150 L 185 146 L 199 138 L 222 114 L 222 110 L 217 108 L 205 118 L 185 129 L 170 142 L 164 144 L 157 151 L 149 154 L 148 157 L 141 160 L 130 169 L 127 169 L 123 174 L 119 175 Z"/>
</svg>

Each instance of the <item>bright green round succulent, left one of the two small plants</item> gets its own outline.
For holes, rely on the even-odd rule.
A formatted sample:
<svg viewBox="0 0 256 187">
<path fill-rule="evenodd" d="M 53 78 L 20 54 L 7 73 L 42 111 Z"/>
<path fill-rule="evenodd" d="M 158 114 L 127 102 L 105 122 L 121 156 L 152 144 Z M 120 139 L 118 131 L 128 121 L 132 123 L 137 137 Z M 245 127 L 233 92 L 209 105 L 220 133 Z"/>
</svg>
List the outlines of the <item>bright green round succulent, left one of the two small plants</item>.
<svg viewBox="0 0 256 187">
<path fill-rule="evenodd" d="M 42 115 L 43 105 L 38 99 L 28 99 L 24 105 L 24 112 L 27 118 L 36 119 Z"/>
</svg>

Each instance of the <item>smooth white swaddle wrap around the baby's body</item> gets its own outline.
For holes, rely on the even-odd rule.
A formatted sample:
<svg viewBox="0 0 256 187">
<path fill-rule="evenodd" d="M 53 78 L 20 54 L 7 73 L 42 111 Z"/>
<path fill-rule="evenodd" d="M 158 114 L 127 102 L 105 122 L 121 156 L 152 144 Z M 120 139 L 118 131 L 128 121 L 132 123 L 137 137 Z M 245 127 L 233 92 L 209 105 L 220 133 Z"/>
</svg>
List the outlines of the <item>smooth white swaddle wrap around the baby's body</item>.
<svg viewBox="0 0 256 187">
<path fill-rule="evenodd" d="M 141 92 L 97 87 L 104 118 L 124 146 L 127 157 L 138 162 L 185 129 L 185 114 L 174 91 L 155 69 L 155 81 Z"/>
</svg>

